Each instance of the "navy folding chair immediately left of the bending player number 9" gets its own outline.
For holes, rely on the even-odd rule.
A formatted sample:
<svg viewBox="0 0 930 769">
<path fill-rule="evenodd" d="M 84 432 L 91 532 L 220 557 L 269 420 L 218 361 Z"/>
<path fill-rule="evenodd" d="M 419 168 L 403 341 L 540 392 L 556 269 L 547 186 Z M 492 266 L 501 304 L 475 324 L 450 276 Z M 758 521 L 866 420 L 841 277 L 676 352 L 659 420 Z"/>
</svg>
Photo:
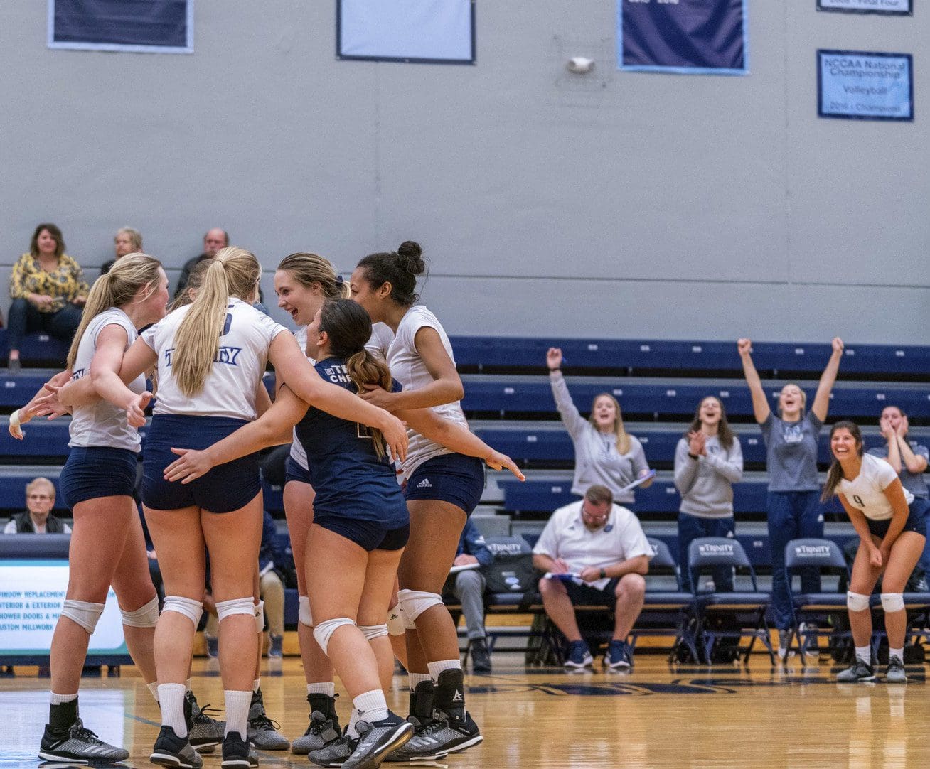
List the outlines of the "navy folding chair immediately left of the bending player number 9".
<svg viewBox="0 0 930 769">
<path fill-rule="evenodd" d="M 813 593 L 795 592 L 792 577 L 802 569 L 817 569 L 824 574 L 835 575 L 835 587 L 832 590 L 820 590 Z M 785 545 L 785 579 L 791 597 L 792 624 L 788 635 L 788 648 L 796 639 L 801 661 L 804 663 L 807 650 L 817 647 L 817 636 L 830 635 L 834 639 L 852 638 L 850 630 L 839 630 L 830 625 L 830 615 L 845 612 L 846 593 L 840 589 L 841 577 L 848 583 L 849 570 L 839 545 L 830 539 L 792 539 Z M 826 583 L 832 584 L 828 579 Z M 807 632 L 811 623 L 817 627 L 816 632 Z M 802 630 L 804 625 L 804 630 Z"/>
</svg>

